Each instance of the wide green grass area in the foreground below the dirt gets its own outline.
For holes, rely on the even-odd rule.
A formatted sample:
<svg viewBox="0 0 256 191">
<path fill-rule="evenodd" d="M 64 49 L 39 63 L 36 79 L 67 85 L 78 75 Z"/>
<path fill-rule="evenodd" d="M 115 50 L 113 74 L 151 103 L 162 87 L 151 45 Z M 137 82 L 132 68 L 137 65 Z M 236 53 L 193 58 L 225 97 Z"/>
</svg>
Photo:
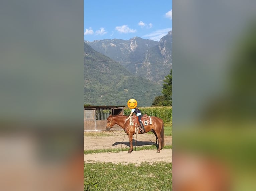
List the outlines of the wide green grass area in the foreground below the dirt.
<svg viewBox="0 0 256 191">
<path fill-rule="evenodd" d="M 171 191 L 172 163 L 84 164 L 85 191 Z"/>
</svg>

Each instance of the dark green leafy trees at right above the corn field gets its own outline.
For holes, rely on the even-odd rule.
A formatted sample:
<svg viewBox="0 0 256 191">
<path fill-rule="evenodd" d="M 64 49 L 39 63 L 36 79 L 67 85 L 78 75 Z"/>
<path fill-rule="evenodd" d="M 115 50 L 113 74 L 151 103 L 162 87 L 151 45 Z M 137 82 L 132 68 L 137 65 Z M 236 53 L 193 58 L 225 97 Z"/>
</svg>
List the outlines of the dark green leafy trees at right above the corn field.
<svg viewBox="0 0 256 191">
<path fill-rule="evenodd" d="M 155 97 L 152 106 L 170 106 L 172 105 L 172 69 L 170 74 L 164 77 L 162 94 Z"/>
</svg>

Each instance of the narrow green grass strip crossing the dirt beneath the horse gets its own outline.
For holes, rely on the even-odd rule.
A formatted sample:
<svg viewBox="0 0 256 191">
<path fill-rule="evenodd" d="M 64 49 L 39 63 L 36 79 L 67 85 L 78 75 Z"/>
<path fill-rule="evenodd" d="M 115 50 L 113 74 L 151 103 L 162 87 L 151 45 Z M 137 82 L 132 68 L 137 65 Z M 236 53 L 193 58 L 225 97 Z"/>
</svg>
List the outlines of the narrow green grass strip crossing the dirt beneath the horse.
<svg viewBox="0 0 256 191">
<path fill-rule="evenodd" d="M 158 142 L 157 142 L 158 144 Z M 96 150 L 84 150 L 84 154 L 94 154 L 94 153 L 104 153 L 104 152 L 122 152 L 122 151 L 128 151 L 130 148 L 126 145 L 124 145 L 124 148 L 110 148 L 110 149 L 96 149 Z M 172 149 L 172 145 L 165 145 L 163 149 Z M 156 145 L 150 145 L 150 146 L 137 146 L 137 151 L 139 150 L 157 150 Z M 135 151 L 135 144 L 133 145 L 133 152 Z"/>
</svg>

